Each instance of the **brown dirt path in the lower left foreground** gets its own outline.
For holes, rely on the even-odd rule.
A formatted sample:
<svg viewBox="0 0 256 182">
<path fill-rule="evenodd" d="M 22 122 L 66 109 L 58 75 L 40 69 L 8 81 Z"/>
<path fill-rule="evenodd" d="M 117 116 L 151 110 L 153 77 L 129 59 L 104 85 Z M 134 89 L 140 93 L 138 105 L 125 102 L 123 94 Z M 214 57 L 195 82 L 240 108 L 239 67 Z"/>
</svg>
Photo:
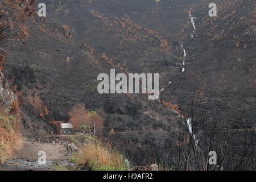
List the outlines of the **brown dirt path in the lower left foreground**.
<svg viewBox="0 0 256 182">
<path fill-rule="evenodd" d="M 39 164 L 40 151 L 46 152 L 46 164 Z M 69 162 L 71 154 L 63 145 L 53 143 L 24 142 L 23 148 L 15 158 L 0 165 L 5 171 L 52 171 L 59 167 L 74 166 Z"/>
</svg>

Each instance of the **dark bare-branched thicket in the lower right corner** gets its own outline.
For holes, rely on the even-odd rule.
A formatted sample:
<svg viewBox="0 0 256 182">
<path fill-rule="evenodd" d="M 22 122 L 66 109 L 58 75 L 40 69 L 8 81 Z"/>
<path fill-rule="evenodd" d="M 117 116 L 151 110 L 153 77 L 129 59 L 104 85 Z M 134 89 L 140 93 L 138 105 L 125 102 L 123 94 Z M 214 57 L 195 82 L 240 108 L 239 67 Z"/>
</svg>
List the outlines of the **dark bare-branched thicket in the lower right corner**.
<svg viewBox="0 0 256 182">
<path fill-rule="evenodd" d="M 225 128 L 221 118 L 209 118 L 200 109 L 199 93 L 193 93 L 178 130 L 171 132 L 171 163 L 177 170 L 255 170 L 254 130 Z M 221 125 L 220 125 L 221 124 Z M 216 151 L 217 164 L 209 164 L 209 152 Z"/>
</svg>

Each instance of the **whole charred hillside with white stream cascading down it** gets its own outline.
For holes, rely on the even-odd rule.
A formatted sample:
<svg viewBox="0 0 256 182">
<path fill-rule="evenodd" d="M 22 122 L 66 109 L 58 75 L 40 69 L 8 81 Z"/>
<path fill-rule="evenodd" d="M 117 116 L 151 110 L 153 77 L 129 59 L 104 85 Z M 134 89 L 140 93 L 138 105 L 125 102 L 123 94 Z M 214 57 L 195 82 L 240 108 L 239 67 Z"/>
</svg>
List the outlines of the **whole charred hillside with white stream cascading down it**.
<svg viewBox="0 0 256 182">
<path fill-rule="evenodd" d="M 170 131 L 189 135 L 195 93 L 205 118 L 221 118 L 218 128 L 255 127 L 254 1 L 217 1 L 215 18 L 203 0 L 45 3 L 47 16 L 27 23 L 26 42 L 5 42 L 5 75 L 22 93 L 24 134 L 52 133 L 50 121 L 68 122 L 68 111 L 84 103 L 104 118 L 102 138 L 136 163 L 170 162 L 179 146 Z M 97 76 L 111 68 L 159 73 L 159 100 L 99 94 Z"/>
</svg>

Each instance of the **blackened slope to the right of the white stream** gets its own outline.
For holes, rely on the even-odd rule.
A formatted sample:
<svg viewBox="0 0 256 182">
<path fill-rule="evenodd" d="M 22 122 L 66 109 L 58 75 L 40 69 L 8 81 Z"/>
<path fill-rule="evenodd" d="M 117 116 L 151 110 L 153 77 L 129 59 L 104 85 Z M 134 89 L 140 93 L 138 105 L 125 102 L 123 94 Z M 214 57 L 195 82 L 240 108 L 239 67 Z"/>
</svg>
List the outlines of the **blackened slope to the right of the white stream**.
<svg viewBox="0 0 256 182">
<path fill-rule="evenodd" d="M 225 127 L 255 127 L 255 2 L 217 1 L 216 18 L 208 15 L 209 3 L 191 10 L 197 31 L 185 42 L 189 64 L 165 97 L 176 96 L 184 109 L 192 88 L 200 89 L 211 118 L 220 117 Z"/>
</svg>

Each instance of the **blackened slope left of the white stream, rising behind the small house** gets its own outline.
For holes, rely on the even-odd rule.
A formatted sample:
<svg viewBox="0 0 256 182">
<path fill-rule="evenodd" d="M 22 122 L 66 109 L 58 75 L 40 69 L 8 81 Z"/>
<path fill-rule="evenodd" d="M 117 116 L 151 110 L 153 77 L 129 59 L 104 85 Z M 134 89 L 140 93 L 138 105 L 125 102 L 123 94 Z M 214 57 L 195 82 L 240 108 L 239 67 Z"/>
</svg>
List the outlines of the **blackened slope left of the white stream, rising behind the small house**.
<svg viewBox="0 0 256 182">
<path fill-rule="evenodd" d="M 166 85 L 168 77 L 180 72 L 178 42 L 156 31 L 158 27 L 154 29 L 154 24 L 147 27 L 139 22 L 139 18 L 132 16 L 133 11 L 129 12 L 130 16 L 123 12 L 118 16 L 106 12 L 101 1 L 84 6 L 80 2 L 49 1 L 47 19 L 36 18 L 36 23 L 28 25 L 30 37 L 27 42 L 10 44 L 7 75 L 14 78 L 14 84 L 22 90 L 24 97 L 28 90 L 39 90 L 49 108 L 49 119 L 68 121 L 67 111 L 79 102 L 85 102 L 88 109 L 104 112 L 106 137 L 112 128 L 116 133 L 135 131 L 133 138 L 119 133 L 111 140 L 126 146 L 132 156 L 138 152 L 134 148 L 139 146 L 142 152 L 137 159 L 143 163 L 152 159 L 154 152 L 161 159 L 163 153 L 168 153 L 161 133 L 176 126 L 177 113 L 158 101 L 148 101 L 144 94 L 98 94 L 97 76 L 109 73 L 110 68 L 116 68 L 117 73 L 160 73 L 160 86 Z M 132 3 L 130 6 L 138 7 Z M 151 9 L 151 3 L 145 8 Z M 117 7 L 114 9 L 118 12 Z M 163 6 L 152 10 L 161 12 L 162 9 Z M 151 14 L 148 18 L 154 12 Z M 170 20 L 169 17 L 166 20 Z M 69 27 L 68 36 L 72 35 L 72 38 L 64 36 L 63 25 Z M 36 119 L 29 107 L 24 106 L 24 109 L 32 122 L 43 122 Z M 159 134 L 154 134 L 149 143 L 148 133 L 143 133 L 155 130 Z M 38 125 L 26 131 L 31 134 L 44 132 Z"/>
</svg>

